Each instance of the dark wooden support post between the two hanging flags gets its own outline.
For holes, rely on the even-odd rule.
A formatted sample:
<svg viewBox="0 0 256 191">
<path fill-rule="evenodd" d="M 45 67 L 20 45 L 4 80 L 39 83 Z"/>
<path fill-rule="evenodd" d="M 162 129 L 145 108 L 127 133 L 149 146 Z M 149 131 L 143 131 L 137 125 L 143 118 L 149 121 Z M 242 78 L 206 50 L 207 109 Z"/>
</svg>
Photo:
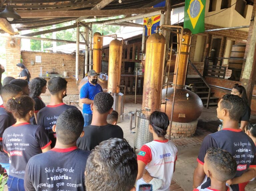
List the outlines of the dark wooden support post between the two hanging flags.
<svg viewBox="0 0 256 191">
<path fill-rule="evenodd" d="M 166 12 L 165 12 L 164 25 L 171 25 L 171 11 L 172 11 L 171 0 L 166 0 L 165 6 L 166 6 Z M 165 66 L 166 66 L 168 61 L 168 51 L 170 46 L 171 33 L 169 31 L 164 30 L 163 35 L 165 36 L 165 39 L 166 39 L 166 51 L 165 51 Z"/>
</svg>

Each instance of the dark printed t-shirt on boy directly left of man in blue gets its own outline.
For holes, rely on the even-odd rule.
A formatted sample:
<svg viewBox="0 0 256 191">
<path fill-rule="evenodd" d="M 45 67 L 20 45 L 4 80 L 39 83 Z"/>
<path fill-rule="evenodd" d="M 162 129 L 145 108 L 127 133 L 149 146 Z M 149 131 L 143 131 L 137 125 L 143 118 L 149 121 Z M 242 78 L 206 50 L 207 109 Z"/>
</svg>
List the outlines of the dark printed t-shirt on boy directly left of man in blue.
<svg viewBox="0 0 256 191">
<path fill-rule="evenodd" d="M 37 113 L 38 125 L 41 125 L 45 128 L 46 132 L 49 135 L 50 140 L 52 141 L 51 143 L 52 148 L 55 146 L 55 143 L 56 143 L 56 133 L 52 131 L 52 127 L 53 125 L 56 124 L 59 115 L 63 111 L 69 108 L 76 108 L 76 107 L 71 105 L 66 105 L 64 103 L 61 103 L 58 105 L 47 105 Z"/>
</svg>

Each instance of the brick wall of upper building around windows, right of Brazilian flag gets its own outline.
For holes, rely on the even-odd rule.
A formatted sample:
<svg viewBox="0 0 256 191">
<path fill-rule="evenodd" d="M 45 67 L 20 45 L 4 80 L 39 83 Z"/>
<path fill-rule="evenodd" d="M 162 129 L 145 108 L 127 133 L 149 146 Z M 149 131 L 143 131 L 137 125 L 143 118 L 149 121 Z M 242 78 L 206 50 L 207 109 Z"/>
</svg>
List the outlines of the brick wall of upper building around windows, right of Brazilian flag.
<svg viewBox="0 0 256 191">
<path fill-rule="evenodd" d="M 210 29 L 218 29 L 222 27 L 214 26 L 214 25 L 208 25 L 205 24 L 205 30 L 210 30 Z M 204 49 L 203 49 L 203 56 L 202 56 L 202 61 L 201 62 L 195 62 L 194 61 L 194 56 L 195 56 L 195 51 L 196 51 L 196 42 L 197 42 L 197 35 L 193 35 L 191 39 L 191 48 L 190 48 L 190 55 L 189 58 L 193 62 L 193 64 L 197 67 L 199 72 L 203 74 L 203 69 L 204 69 L 204 61 L 206 56 L 210 56 L 211 51 L 207 54 L 208 49 L 212 49 L 212 39 L 213 38 L 220 38 L 221 39 L 221 46 L 220 46 L 220 52 L 219 52 L 219 57 L 224 57 L 225 54 L 225 48 L 227 44 L 227 40 L 232 40 L 235 41 L 235 44 L 239 43 L 245 43 L 243 40 L 247 40 L 248 33 L 244 31 L 239 31 L 239 30 L 222 30 L 222 31 L 213 31 L 213 32 L 205 32 L 199 35 L 205 36 L 205 44 L 204 44 Z M 209 39 L 212 36 L 211 39 Z M 210 47 L 207 48 L 207 42 L 210 42 Z M 189 65 L 188 68 L 188 74 L 189 75 L 197 75 L 196 71 Z M 227 70 L 226 76 L 231 75 L 231 70 Z"/>
</svg>

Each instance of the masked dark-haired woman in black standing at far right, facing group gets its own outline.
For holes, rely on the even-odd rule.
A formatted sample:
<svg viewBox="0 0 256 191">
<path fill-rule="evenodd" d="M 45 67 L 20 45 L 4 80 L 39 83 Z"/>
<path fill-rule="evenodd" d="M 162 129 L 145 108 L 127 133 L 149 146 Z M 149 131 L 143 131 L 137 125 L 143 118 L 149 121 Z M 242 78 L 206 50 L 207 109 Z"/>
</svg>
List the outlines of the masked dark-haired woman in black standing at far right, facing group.
<svg viewBox="0 0 256 191">
<path fill-rule="evenodd" d="M 249 120 L 250 120 L 250 116 L 251 116 L 251 108 L 248 105 L 248 98 L 247 98 L 247 95 L 246 95 L 246 89 L 244 88 L 244 86 L 241 86 L 239 84 L 235 84 L 233 89 L 231 90 L 231 94 L 237 95 L 237 96 L 243 98 L 243 100 L 246 104 L 244 113 L 240 118 L 240 129 L 242 129 L 244 131 L 245 127 L 249 124 Z"/>
</svg>

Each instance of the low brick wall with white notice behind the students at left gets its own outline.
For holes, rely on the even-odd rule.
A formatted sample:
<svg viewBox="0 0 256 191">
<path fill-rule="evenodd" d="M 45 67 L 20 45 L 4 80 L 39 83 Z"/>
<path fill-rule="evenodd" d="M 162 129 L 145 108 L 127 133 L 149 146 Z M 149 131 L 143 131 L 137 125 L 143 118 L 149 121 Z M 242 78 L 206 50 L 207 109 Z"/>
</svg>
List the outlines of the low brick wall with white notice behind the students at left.
<svg viewBox="0 0 256 191">
<path fill-rule="evenodd" d="M 30 61 L 35 61 L 35 56 L 41 56 L 42 63 L 36 63 L 34 65 L 30 64 Z M 46 52 L 33 52 L 33 51 L 21 51 L 21 57 L 24 64 L 28 68 L 31 79 L 38 77 L 40 75 L 40 67 L 42 67 L 42 74 L 46 71 L 52 72 L 55 68 L 55 72 L 62 74 L 63 71 L 67 72 L 67 94 L 79 94 L 78 85 L 76 85 L 75 80 L 75 54 L 63 54 L 63 53 L 46 53 Z M 62 60 L 65 66 L 62 66 Z M 84 72 L 84 56 L 79 56 L 79 81 L 83 78 Z M 47 81 L 49 78 L 46 79 Z M 79 81 L 77 84 L 79 84 Z M 46 95 L 49 95 L 48 90 Z"/>
</svg>

